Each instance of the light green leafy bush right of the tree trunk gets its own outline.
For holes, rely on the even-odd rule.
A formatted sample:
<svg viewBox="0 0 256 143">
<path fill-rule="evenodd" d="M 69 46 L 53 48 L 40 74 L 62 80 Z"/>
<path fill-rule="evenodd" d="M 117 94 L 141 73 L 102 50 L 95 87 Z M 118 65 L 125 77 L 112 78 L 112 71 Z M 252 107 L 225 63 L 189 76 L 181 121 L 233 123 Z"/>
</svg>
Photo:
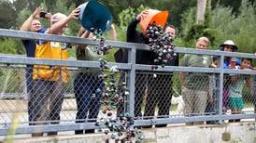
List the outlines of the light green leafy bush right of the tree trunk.
<svg viewBox="0 0 256 143">
<path fill-rule="evenodd" d="M 230 7 L 216 7 L 211 11 L 210 27 L 220 33 L 216 40 L 219 45 L 227 39 L 234 40 L 239 52 L 255 52 L 256 22 L 254 5 L 243 0 L 237 16 Z"/>
</svg>

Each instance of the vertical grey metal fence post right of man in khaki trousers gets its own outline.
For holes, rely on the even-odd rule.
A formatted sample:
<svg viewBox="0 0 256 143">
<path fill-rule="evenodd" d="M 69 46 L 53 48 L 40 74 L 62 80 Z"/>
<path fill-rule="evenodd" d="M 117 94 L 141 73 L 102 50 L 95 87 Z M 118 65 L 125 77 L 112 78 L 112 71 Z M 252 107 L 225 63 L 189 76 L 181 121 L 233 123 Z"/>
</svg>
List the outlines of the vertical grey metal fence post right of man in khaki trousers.
<svg viewBox="0 0 256 143">
<path fill-rule="evenodd" d="M 219 63 L 220 63 L 220 74 L 219 74 L 219 86 L 217 86 L 217 88 L 219 88 L 219 94 L 218 94 L 218 114 L 220 116 L 220 120 L 219 123 L 222 123 L 221 120 L 221 116 L 222 116 L 222 97 L 223 97 L 223 78 L 224 78 L 224 56 L 220 56 L 219 58 Z"/>
</svg>

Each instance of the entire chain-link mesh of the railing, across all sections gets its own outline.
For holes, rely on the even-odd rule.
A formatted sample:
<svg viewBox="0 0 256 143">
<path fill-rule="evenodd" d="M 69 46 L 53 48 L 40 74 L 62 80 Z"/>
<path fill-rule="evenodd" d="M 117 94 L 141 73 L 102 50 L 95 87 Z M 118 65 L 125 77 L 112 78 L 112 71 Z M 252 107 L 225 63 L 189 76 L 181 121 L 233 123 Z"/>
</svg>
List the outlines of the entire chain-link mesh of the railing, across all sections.
<svg viewBox="0 0 256 143">
<path fill-rule="evenodd" d="M 127 97 L 117 98 L 116 92 L 111 92 L 109 84 L 113 79 L 103 80 L 97 70 L 53 70 L 53 73 L 50 72 L 52 76 L 45 78 L 36 76 L 35 70 L 1 66 L 2 125 L 11 123 L 16 113 L 20 113 L 19 123 L 28 125 L 95 122 L 122 116 L 127 111 Z M 55 78 L 55 72 L 59 78 Z M 183 75 L 183 80 L 180 79 L 180 74 Z M 136 118 L 216 115 L 219 110 L 217 83 L 220 81 L 217 74 L 136 71 L 135 75 Z M 115 89 L 118 90 L 119 84 L 126 84 L 128 76 L 126 71 L 121 71 L 113 77 Z M 250 75 L 225 74 L 223 81 L 223 112 L 253 112 L 256 85 Z M 237 102 L 237 98 L 234 100 L 232 97 L 238 92 L 241 97 Z M 236 107 L 241 112 L 233 109 Z"/>
</svg>

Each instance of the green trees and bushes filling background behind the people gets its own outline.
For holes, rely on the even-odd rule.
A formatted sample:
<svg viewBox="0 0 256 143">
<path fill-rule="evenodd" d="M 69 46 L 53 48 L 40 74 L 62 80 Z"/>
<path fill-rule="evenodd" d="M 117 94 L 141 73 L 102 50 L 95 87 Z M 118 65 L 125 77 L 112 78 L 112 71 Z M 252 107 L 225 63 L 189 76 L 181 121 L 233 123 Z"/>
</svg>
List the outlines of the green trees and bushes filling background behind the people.
<svg viewBox="0 0 256 143">
<path fill-rule="evenodd" d="M 219 1 L 219 3 L 218 3 Z M 0 28 L 19 29 L 21 23 L 32 14 L 35 7 L 44 7 L 45 11 L 55 13 L 63 12 L 68 15 L 75 7 L 87 2 L 87 0 L 15 0 L 13 3 L 2 0 L 0 2 L 0 12 L 5 15 L 0 16 Z M 194 41 L 202 35 L 210 38 L 211 47 L 217 49 L 218 45 L 226 39 L 232 39 L 240 48 L 240 52 L 255 52 L 255 6 L 251 5 L 253 0 L 211 0 L 211 5 L 206 7 L 206 21 L 202 25 L 195 23 L 196 0 L 178 1 L 178 0 L 100 0 L 109 8 L 113 15 L 114 23 L 118 32 L 118 41 L 126 41 L 126 29 L 128 23 L 135 19 L 135 16 L 143 9 L 155 8 L 160 10 L 169 10 L 169 24 L 178 28 L 178 38 L 175 44 L 178 46 L 194 46 Z M 243 3 L 241 3 L 243 2 Z M 44 27 L 49 27 L 48 20 L 41 20 Z M 66 34 L 76 36 L 80 24 L 73 20 L 69 23 Z M 107 36 L 108 37 L 108 36 Z M 108 39 L 108 38 L 107 38 Z M 5 53 L 24 53 L 21 43 L 15 41 L 9 42 L 2 40 L 4 45 L 13 45 L 2 48 Z M 14 44 L 15 43 L 15 44 Z M 2 46 L 4 46 L 2 45 Z M 107 58 L 113 61 L 113 53 L 116 49 L 110 51 Z M 112 53 L 113 52 L 113 53 Z M 74 51 L 71 54 L 74 56 Z"/>
</svg>

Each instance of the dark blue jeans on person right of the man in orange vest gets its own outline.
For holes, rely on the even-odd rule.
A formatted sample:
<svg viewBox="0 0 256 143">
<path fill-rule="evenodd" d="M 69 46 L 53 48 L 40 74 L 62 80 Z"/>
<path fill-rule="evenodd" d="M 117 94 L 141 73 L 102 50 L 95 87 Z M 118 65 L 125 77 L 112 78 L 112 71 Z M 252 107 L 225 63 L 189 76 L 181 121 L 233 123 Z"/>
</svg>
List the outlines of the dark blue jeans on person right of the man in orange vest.
<svg viewBox="0 0 256 143">
<path fill-rule="evenodd" d="M 84 123 L 86 119 L 95 121 L 100 110 L 103 81 L 96 74 L 79 72 L 74 81 L 75 97 L 78 106 L 76 123 Z M 77 130 L 82 134 L 83 130 Z"/>
</svg>

